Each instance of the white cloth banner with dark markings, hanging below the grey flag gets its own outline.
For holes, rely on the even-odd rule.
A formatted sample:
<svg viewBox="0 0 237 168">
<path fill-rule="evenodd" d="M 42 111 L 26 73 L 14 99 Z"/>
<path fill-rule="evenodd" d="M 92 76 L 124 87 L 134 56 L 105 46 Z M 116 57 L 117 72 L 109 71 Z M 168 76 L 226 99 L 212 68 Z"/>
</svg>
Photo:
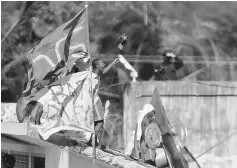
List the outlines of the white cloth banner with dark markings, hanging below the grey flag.
<svg viewBox="0 0 237 168">
<path fill-rule="evenodd" d="M 94 132 L 92 93 L 99 82 L 95 77 L 96 74 L 90 71 L 66 76 L 61 85 L 52 86 L 40 97 L 38 102 L 43 105 L 43 114 L 42 124 L 37 129 L 43 139 L 65 130 L 78 131 L 85 139 L 90 138 Z M 64 104 L 70 95 L 73 95 L 72 99 Z"/>
</svg>

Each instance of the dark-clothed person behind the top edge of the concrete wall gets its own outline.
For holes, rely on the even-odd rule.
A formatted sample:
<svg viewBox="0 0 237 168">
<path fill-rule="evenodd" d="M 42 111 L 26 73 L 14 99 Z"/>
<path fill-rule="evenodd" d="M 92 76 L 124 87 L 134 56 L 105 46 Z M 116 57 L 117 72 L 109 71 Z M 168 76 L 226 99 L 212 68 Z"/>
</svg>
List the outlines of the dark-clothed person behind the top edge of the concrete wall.
<svg viewBox="0 0 237 168">
<path fill-rule="evenodd" d="M 164 61 L 155 68 L 155 80 L 177 80 L 176 70 L 183 67 L 183 61 L 172 50 L 163 52 Z"/>
</svg>

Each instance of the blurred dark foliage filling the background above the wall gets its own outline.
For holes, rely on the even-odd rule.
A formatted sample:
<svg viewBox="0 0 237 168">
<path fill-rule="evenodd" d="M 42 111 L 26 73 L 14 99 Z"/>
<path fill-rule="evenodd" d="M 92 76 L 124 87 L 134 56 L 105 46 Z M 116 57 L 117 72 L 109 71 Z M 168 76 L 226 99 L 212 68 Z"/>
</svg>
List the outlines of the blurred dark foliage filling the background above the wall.
<svg viewBox="0 0 237 168">
<path fill-rule="evenodd" d="M 190 56 L 190 60 L 194 61 L 200 58 L 208 60 L 209 57 L 216 61 L 236 58 L 236 2 L 88 3 L 91 55 L 115 54 L 116 41 L 125 33 L 129 38 L 125 53 L 130 55 L 158 57 L 168 47 L 177 55 Z M 16 101 L 27 82 L 25 53 L 75 16 L 83 5 L 84 2 L 76 1 L 1 2 L 2 101 Z M 141 79 L 149 79 L 153 75 L 152 63 L 134 66 Z M 185 65 L 178 72 L 179 79 L 204 66 L 209 68 L 209 75 L 200 75 L 199 80 L 237 79 L 237 65 L 195 63 Z M 106 79 L 105 83 L 110 83 L 111 77 Z"/>
</svg>

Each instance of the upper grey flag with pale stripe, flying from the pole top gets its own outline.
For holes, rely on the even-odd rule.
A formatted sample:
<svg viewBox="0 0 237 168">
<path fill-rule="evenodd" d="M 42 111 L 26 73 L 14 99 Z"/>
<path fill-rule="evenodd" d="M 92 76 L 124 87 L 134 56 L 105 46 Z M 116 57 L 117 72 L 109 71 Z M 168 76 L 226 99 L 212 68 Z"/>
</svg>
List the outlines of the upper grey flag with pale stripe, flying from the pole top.
<svg viewBox="0 0 237 168">
<path fill-rule="evenodd" d="M 44 79 L 64 76 L 77 59 L 89 57 L 86 7 L 73 19 L 64 23 L 29 53 L 30 69 L 26 95 L 34 93 Z"/>
</svg>

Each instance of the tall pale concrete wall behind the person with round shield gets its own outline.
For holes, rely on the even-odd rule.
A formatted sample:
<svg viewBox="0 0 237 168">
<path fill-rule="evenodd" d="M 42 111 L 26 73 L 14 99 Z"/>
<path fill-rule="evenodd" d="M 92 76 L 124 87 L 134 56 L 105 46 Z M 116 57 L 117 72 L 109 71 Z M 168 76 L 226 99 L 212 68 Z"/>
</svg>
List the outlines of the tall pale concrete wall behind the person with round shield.
<svg viewBox="0 0 237 168">
<path fill-rule="evenodd" d="M 138 111 L 150 103 L 154 88 L 159 90 L 169 120 L 177 116 L 186 124 L 189 130 L 187 146 L 194 156 L 236 133 L 237 82 L 135 82 L 128 84 L 124 93 L 125 147 L 131 131 L 135 130 Z M 237 167 L 236 144 L 237 134 L 198 160 L 210 167 L 207 165 L 211 164 L 210 159 L 221 158 L 217 166 Z"/>
</svg>

